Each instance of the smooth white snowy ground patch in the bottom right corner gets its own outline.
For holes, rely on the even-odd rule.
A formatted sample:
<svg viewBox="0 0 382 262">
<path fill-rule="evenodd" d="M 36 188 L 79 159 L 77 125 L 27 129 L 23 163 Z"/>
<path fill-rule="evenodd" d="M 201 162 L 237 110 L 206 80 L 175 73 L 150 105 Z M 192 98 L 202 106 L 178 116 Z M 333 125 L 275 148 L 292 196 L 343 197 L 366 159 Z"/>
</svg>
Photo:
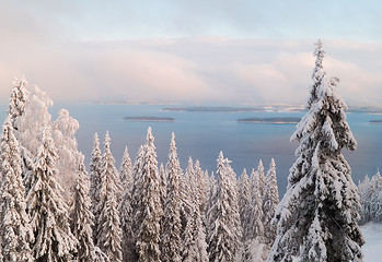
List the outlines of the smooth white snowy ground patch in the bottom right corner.
<svg viewBox="0 0 382 262">
<path fill-rule="evenodd" d="M 363 262 L 382 261 L 382 224 L 367 223 L 361 226 L 366 243 L 363 249 Z"/>
</svg>

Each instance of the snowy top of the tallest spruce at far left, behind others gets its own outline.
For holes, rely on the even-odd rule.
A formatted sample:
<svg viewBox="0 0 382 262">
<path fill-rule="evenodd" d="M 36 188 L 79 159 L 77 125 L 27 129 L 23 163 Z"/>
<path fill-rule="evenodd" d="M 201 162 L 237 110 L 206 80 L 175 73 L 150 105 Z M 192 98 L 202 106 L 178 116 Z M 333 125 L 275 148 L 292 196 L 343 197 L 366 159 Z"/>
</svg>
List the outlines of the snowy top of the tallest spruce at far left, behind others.
<svg viewBox="0 0 382 262">
<path fill-rule="evenodd" d="M 13 129 L 18 130 L 15 124 L 16 119 L 24 114 L 25 103 L 28 100 L 30 92 L 25 88 L 27 82 L 25 78 L 21 80 L 15 79 L 12 83 L 12 92 L 8 108 L 8 116 L 10 117 Z"/>
</svg>

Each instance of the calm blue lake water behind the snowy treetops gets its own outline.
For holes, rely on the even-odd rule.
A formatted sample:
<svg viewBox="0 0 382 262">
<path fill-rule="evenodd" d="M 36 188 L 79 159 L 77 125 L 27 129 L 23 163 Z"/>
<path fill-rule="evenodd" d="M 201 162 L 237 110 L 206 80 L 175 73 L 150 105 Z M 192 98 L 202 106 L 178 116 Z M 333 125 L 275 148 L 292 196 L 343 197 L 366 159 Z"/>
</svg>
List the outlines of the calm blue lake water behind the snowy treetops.
<svg viewBox="0 0 382 262">
<path fill-rule="evenodd" d="M 165 105 L 55 105 L 50 109 L 53 119 L 57 118 L 60 108 L 69 110 L 80 122 L 77 133 L 79 150 L 85 155 L 89 166 L 93 146 L 93 135 L 99 133 L 101 141 L 106 130 L 112 138 L 112 153 L 119 167 L 125 146 L 128 146 L 130 157 L 136 158 L 137 151 L 146 141 L 149 127 L 155 138 L 159 163 L 166 163 L 171 133 L 176 135 L 176 145 L 181 165 L 186 168 L 188 157 L 199 159 L 208 171 L 216 170 L 216 159 L 219 152 L 232 160 L 232 167 L 238 175 L 243 168 L 250 172 L 257 168 L 263 159 L 268 169 L 274 157 L 277 167 L 279 192 L 282 195 L 287 187 L 289 168 L 296 160 L 294 151 L 298 143 L 290 142 L 296 124 L 239 123 L 239 118 L 248 117 L 302 117 L 303 112 L 186 112 L 163 111 Z M 5 106 L 1 107 L 2 119 Z M 139 122 L 127 121 L 124 117 L 173 117 L 174 122 Z M 344 151 L 344 155 L 352 169 L 356 183 L 364 175 L 374 175 L 382 162 L 382 124 L 370 124 L 371 119 L 382 119 L 382 116 L 368 114 L 348 114 L 348 122 L 357 141 L 355 152 Z"/>
</svg>

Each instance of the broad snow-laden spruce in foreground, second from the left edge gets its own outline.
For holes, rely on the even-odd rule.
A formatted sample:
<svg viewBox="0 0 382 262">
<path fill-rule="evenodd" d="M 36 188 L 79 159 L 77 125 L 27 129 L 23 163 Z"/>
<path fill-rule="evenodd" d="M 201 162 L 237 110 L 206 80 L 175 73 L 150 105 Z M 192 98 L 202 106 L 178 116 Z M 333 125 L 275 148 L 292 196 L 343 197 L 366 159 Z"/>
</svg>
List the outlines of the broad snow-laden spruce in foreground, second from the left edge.
<svg viewBox="0 0 382 262">
<path fill-rule="evenodd" d="M 44 127 L 35 169 L 25 177 L 31 184 L 26 195 L 26 211 L 34 233 L 32 245 L 35 261 L 68 261 L 78 243 L 70 231 L 68 206 L 56 181 L 57 151 L 50 127 Z"/>
</svg>

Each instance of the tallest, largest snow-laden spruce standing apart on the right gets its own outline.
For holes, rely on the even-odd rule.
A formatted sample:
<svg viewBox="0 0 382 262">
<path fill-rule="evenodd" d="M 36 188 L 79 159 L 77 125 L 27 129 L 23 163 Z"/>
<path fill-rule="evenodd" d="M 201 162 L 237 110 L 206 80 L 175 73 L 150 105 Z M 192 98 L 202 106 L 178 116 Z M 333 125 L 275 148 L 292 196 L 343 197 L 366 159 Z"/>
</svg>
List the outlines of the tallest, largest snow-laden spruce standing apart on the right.
<svg viewBox="0 0 382 262">
<path fill-rule="evenodd" d="M 316 60 L 321 44 L 317 44 Z M 317 62 L 316 62 L 317 64 Z M 315 72 L 313 82 L 315 84 Z M 357 221 L 359 196 L 342 150 L 356 150 L 337 79 L 313 86 L 309 111 L 291 136 L 299 141 L 287 192 L 275 222 L 277 238 L 268 261 L 361 261 L 364 243 Z"/>
</svg>

